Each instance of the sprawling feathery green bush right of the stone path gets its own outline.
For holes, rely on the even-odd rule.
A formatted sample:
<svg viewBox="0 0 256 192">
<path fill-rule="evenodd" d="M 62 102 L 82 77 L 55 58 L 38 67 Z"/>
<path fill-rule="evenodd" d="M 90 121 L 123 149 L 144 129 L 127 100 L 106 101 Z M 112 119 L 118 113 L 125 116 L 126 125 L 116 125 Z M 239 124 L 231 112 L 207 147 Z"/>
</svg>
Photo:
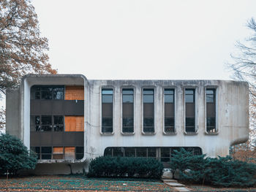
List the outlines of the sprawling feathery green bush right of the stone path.
<svg viewBox="0 0 256 192">
<path fill-rule="evenodd" d="M 178 172 L 180 180 L 211 185 L 252 186 L 256 184 L 256 165 L 227 157 L 206 158 L 192 155 L 183 148 L 175 150 L 170 162 L 171 169 Z"/>
</svg>

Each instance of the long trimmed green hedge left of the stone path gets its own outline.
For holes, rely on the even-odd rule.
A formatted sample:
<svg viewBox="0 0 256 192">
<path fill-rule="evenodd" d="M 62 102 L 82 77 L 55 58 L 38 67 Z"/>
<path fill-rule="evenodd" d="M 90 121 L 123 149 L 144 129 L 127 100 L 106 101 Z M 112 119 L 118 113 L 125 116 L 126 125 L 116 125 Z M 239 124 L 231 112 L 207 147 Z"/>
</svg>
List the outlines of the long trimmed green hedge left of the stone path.
<svg viewBox="0 0 256 192">
<path fill-rule="evenodd" d="M 89 177 L 160 178 L 163 165 L 154 158 L 101 156 L 91 160 Z"/>
</svg>

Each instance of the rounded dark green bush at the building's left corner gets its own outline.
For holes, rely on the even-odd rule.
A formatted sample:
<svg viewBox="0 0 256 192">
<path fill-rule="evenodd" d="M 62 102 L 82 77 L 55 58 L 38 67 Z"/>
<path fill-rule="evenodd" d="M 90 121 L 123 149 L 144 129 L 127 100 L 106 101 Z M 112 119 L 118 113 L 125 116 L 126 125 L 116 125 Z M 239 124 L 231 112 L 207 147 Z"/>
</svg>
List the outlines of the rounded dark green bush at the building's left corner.
<svg viewBox="0 0 256 192">
<path fill-rule="evenodd" d="M 34 169 L 37 164 L 37 155 L 29 152 L 20 139 L 10 134 L 0 135 L 0 174 L 7 171 L 17 174 L 18 170 Z"/>
</svg>

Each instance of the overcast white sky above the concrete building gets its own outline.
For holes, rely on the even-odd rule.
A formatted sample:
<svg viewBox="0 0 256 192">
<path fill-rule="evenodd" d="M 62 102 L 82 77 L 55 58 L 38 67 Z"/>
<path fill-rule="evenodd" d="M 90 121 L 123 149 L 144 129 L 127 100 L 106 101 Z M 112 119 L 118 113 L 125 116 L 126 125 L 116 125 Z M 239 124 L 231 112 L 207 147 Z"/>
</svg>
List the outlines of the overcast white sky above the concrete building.
<svg viewBox="0 0 256 192">
<path fill-rule="evenodd" d="M 32 0 L 59 73 L 88 79 L 230 79 L 255 0 Z"/>
</svg>

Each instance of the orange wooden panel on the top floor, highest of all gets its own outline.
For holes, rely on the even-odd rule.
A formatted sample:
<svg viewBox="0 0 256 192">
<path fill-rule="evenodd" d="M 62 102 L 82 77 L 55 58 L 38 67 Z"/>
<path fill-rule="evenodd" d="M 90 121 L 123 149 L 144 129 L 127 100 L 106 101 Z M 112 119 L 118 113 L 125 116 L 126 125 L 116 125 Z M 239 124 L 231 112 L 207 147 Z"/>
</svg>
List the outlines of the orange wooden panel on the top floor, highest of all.
<svg viewBox="0 0 256 192">
<path fill-rule="evenodd" d="M 84 88 L 83 86 L 66 86 L 65 100 L 83 100 Z"/>
</svg>

